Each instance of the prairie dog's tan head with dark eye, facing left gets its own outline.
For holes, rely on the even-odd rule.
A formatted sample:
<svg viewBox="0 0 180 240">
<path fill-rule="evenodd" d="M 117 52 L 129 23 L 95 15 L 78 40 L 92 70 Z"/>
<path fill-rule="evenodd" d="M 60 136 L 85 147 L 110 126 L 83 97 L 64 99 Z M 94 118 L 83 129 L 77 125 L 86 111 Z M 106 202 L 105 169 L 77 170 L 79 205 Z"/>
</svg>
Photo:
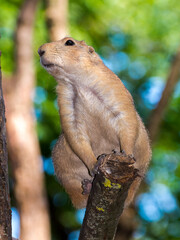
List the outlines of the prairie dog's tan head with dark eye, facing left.
<svg viewBox="0 0 180 240">
<path fill-rule="evenodd" d="M 91 46 L 70 37 L 46 43 L 39 48 L 38 53 L 42 66 L 56 79 L 87 74 L 101 62 Z"/>
</svg>

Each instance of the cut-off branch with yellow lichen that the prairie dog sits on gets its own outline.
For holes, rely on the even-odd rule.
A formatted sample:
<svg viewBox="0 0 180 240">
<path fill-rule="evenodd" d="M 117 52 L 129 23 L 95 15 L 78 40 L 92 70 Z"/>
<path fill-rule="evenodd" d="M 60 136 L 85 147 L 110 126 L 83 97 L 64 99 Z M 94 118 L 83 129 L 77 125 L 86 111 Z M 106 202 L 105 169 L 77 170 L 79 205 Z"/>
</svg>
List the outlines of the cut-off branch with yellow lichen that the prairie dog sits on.
<svg viewBox="0 0 180 240">
<path fill-rule="evenodd" d="M 134 162 L 134 159 L 121 153 L 108 154 L 106 157 L 102 155 L 79 240 L 114 239 L 128 189 L 138 177 Z"/>
</svg>

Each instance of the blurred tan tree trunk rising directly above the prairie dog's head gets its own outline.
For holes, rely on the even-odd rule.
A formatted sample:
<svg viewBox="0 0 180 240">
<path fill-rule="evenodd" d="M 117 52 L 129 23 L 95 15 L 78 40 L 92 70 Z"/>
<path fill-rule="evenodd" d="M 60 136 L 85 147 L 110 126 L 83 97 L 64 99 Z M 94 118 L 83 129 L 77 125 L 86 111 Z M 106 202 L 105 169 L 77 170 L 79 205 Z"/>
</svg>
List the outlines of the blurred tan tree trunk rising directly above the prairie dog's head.
<svg viewBox="0 0 180 240">
<path fill-rule="evenodd" d="M 57 41 L 68 34 L 68 0 L 46 0 L 46 2 L 50 40 Z"/>
</svg>

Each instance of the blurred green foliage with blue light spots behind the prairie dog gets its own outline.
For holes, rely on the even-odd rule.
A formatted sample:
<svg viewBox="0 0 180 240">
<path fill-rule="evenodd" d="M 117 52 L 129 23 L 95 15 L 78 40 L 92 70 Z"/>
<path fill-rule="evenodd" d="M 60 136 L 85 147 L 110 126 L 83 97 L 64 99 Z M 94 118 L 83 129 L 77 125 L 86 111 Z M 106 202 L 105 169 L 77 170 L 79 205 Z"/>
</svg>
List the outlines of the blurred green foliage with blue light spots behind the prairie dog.
<svg viewBox="0 0 180 240">
<path fill-rule="evenodd" d="M 11 75 L 15 68 L 14 33 L 22 2 L 1 1 L 0 49 L 4 75 Z M 38 47 L 49 41 L 45 6 L 41 1 L 33 41 L 37 132 L 46 174 L 52 239 L 75 240 L 83 212 L 73 209 L 68 196 L 53 176 L 51 149 L 61 130 L 56 82 L 40 66 L 37 55 Z M 70 35 L 92 45 L 105 64 L 120 76 L 146 123 L 161 97 L 172 59 L 180 45 L 179 26 L 179 0 L 69 1 Z M 140 194 L 136 201 L 139 227 L 134 239 L 180 239 L 179 116 L 178 83 L 162 119 L 158 141 L 153 147 L 153 160 L 145 179 L 149 190 Z"/>
</svg>

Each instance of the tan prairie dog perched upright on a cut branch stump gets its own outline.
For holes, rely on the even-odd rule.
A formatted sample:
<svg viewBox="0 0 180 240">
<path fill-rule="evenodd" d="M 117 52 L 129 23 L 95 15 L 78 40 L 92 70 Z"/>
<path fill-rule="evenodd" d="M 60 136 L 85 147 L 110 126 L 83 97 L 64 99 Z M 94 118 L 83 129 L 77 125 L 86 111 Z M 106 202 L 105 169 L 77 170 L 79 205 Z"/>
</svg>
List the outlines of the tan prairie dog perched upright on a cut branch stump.
<svg viewBox="0 0 180 240">
<path fill-rule="evenodd" d="M 57 81 L 63 133 L 52 152 L 55 173 L 73 205 L 84 208 L 88 194 L 82 194 L 82 182 L 92 179 L 97 157 L 123 150 L 144 175 L 151 158 L 149 138 L 131 94 L 91 46 L 68 37 L 42 45 L 38 53 Z M 140 181 L 131 185 L 126 206 Z"/>
</svg>

